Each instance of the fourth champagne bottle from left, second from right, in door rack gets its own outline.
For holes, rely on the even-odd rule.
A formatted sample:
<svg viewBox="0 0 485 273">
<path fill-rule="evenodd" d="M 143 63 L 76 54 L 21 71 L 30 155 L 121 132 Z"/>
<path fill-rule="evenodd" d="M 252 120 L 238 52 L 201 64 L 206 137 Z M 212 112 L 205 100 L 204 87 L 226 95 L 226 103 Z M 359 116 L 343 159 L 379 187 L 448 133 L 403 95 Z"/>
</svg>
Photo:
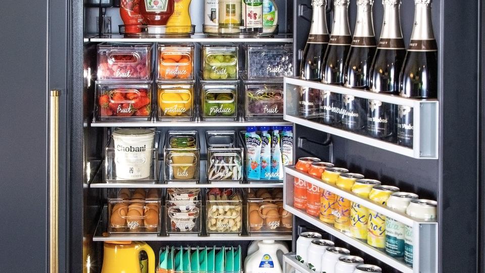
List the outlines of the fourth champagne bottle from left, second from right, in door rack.
<svg viewBox="0 0 485 273">
<path fill-rule="evenodd" d="M 397 94 L 399 91 L 399 71 L 406 48 L 399 9 L 401 0 L 383 0 L 384 21 L 379 44 L 370 69 L 371 92 Z M 396 135 L 396 110 L 394 104 L 377 100 L 367 102 L 367 134 L 374 138 L 393 140 Z"/>
</svg>

